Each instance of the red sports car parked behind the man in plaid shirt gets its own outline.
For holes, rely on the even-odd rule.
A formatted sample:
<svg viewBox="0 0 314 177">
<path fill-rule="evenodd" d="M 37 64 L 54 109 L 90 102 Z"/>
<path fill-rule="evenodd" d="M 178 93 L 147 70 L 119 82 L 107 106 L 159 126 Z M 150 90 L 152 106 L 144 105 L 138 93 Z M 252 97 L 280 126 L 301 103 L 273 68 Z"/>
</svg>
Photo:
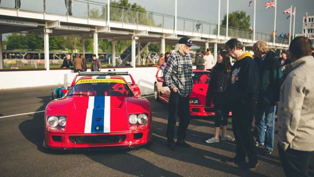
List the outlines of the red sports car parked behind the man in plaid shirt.
<svg viewBox="0 0 314 177">
<path fill-rule="evenodd" d="M 214 116 L 213 104 L 206 106 L 206 95 L 209 86 L 210 71 L 193 69 L 193 89 L 190 95 L 191 116 Z M 154 87 L 155 99 L 168 103 L 170 89 L 163 85 L 163 69 L 158 69 Z"/>
</svg>

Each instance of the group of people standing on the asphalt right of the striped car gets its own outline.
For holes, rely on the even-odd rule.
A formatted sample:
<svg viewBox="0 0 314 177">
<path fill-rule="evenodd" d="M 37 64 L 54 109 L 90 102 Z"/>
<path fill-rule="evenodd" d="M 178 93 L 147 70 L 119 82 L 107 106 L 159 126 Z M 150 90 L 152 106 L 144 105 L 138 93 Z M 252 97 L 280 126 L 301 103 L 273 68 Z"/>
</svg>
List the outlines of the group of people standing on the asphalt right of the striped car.
<svg viewBox="0 0 314 177">
<path fill-rule="evenodd" d="M 189 148 L 184 139 L 189 124 L 189 95 L 193 88 L 190 38 L 179 40 L 178 49 L 162 62 L 164 83 L 171 90 L 167 141 L 170 150 Z M 275 114 L 278 107 L 278 151 L 287 177 L 307 177 L 314 151 L 314 57 L 311 40 L 296 37 L 288 51 L 278 58 L 264 41 L 253 45 L 254 56 L 243 51 L 235 38 L 228 40 L 218 53 L 217 63 L 207 94 L 207 104 L 213 102 L 215 134 L 206 143 L 235 141 L 235 157 L 224 162 L 255 169 L 259 164 L 257 147 L 270 154 L 274 149 Z M 209 51 L 207 51 L 209 52 Z M 196 59 L 198 69 L 207 69 L 210 53 L 201 52 Z M 235 59 L 231 65 L 230 57 Z M 210 63 L 212 64 L 212 63 Z M 229 112 L 235 138 L 227 135 Z M 179 115 L 177 142 L 174 127 Z M 255 120 L 255 121 L 254 121 Z M 253 122 L 255 129 L 252 131 Z M 219 136 L 220 128 L 222 134 Z M 246 162 L 248 157 L 248 162 Z"/>
</svg>

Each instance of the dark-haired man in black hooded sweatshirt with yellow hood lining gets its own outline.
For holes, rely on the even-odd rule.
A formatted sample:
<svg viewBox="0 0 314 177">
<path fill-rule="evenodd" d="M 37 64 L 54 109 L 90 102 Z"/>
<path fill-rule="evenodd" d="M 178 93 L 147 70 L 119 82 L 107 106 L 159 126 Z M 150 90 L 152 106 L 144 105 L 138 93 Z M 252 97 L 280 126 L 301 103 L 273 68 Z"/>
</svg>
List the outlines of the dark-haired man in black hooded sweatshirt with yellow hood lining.
<svg viewBox="0 0 314 177">
<path fill-rule="evenodd" d="M 226 159 L 226 163 L 249 162 L 245 169 L 255 169 L 258 165 L 257 148 L 253 137 L 252 122 L 259 96 L 259 73 L 253 56 L 243 52 L 243 44 L 235 38 L 226 42 L 229 55 L 236 59 L 231 68 L 231 81 L 228 85 L 227 100 L 232 104 L 232 128 L 235 135 L 236 155 Z"/>
</svg>

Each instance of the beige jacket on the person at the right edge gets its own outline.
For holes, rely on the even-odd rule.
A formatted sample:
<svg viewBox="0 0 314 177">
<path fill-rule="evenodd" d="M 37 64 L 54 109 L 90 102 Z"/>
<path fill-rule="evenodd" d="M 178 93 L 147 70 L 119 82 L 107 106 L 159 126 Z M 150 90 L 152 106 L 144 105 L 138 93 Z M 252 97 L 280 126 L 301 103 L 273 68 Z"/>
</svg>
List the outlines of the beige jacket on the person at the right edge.
<svg viewBox="0 0 314 177">
<path fill-rule="evenodd" d="M 314 58 L 303 57 L 284 68 L 280 89 L 279 145 L 286 150 L 314 151 Z"/>
</svg>

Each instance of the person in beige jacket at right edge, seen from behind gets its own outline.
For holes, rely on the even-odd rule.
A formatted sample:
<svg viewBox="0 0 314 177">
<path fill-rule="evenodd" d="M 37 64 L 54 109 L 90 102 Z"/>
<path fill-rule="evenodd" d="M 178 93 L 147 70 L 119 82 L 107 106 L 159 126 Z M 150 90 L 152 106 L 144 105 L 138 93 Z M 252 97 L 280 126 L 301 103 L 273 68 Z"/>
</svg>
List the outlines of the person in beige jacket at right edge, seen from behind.
<svg viewBox="0 0 314 177">
<path fill-rule="evenodd" d="M 278 109 L 279 156 L 287 177 L 308 177 L 314 151 L 314 58 L 309 38 L 294 38 L 289 46 L 292 63 L 280 89 Z"/>
</svg>

